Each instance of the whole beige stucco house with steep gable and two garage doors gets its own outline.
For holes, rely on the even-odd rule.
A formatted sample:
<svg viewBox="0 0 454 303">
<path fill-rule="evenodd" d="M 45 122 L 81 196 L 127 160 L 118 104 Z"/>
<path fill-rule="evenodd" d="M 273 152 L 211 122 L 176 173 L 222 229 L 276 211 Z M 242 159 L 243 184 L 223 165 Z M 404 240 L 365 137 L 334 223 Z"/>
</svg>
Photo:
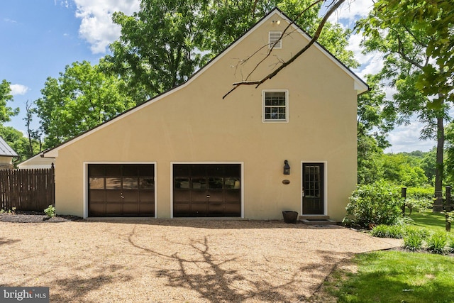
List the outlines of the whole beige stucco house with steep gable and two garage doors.
<svg viewBox="0 0 454 303">
<path fill-rule="evenodd" d="M 298 211 L 340 221 L 357 180 L 357 97 L 367 84 L 315 44 L 257 89 L 223 99 L 244 75 L 255 69 L 251 79 L 260 79 L 309 41 L 292 25 L 255 68 L 288 24 L 273 10 L 184 84 L 45 151 L 58 167 L 57 213 L 282 219 Z"/>
</svg>

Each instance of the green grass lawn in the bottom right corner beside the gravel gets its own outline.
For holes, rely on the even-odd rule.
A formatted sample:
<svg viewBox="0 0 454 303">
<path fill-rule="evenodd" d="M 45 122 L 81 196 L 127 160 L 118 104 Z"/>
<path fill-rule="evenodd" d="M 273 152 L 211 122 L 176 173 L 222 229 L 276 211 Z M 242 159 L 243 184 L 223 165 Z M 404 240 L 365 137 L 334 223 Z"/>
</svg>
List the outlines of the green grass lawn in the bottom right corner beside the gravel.
<svg viewBox="0 0 454 303">
<path fill-rule="evenodd" d="M 337 270 L 326 282 L 337 302 L 454 302 L 453 257 L 378 251 L 353 263 L 358 272 Z"/>
</svg>

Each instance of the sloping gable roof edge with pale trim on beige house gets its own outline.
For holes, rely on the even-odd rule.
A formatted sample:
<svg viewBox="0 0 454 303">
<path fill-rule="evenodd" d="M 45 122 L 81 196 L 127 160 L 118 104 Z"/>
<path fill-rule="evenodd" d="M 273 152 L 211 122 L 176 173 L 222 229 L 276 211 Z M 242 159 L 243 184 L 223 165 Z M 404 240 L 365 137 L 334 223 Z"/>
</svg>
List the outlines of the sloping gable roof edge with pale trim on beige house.
<svg viewBox="0 0 454 303">
<path fill-rule="evenodd" d="M 132 109 L 128 109 L 127 111 L 123 111 L 123 113 L 118 114 L 118 116 L 110 119 L 109 121 L 106 121 L 104 123 L 99 124 L 99 126 L 96 126 L 95 128 L 92 128 L 89 131 L 86 131 L 79 136 L 76 136 L 69 141 L 66 141 L 60 145 L 57 145 L 55 148 L 50 148 L 49 150 L 45 150 L 43 152 L 43 156 L 45 158 L 55 158 L 58 157 L 58 150 L 65 148 L 67 145 L 70 145 L 76 141 L 79 141 L 80 139 L 84 138 L 85 136 L 89 136 L 91 133 L 94 133 L 106 126 L 109 126 L 111 123 L 114 123 L 115 121 L 118 121 L 119 119 L 123 119 L 126 116 L 129 116 L 130 114 L 135 113 L 135 111 L 139 111 L 140 109 L 143 109 L 146 106 L 150 106 L 150 104 L 155 103 L 155 101 L 158 101 L 174 92 L 177 92 L 179 89 L 182 89 L 184 87 L 187 87 L 191 82 L 194 81 L 201 73 L 204 72 L 204 70 L 209 69 L 212 65 L 214 65 L 223 55 L 228 53 L 229 50 L 234 48 L 236 45 L 238 45 L 242 40 L 244 40 L 248 35 L 253 33 L 256 28 L 260 27 L 263 23 L 266 23 L 269 21 L 271 18 L 274 18 L 275 16 L 279 16 L 280 18 L 287 20 L 289 23 L 292 23 L 292 19 L 289 18 L 287 15 L 285 15 L 280 9 L 275 8 L 270 13 L 268 13 L 266 16 L 264 16 L 258 23 L 255 23 L 255 26 L 250 28 L 248 31 L 246 31 L 243 35 L 241 35 L 237 40 L 233 41 L 231 45 L 228 45 L 228 47 L 223 50 L 220 54 L 216 55 L 213 59 L 211 59 L 204 67 L 201 67 L 199 70 L 194 72 L 194 74 L 187 79 L 186 82 L 177 85 L 176 87 L 173 87 L 172 89 L 168 90 L 167 92 L 163 92 L 162 94 L 157 94 L 157 96 L 149 99 L 148 101 L 145 101 L 143 104 L 139 104 L 138 106 L 133 107 Z M 306 33 L 302 28 L 297 26 L 295 23 L 292 23 L 292 27 L 294 28 L 295 31 L 303 35 L 307 40 L 311 40 L 311 36 Z M 326 48 L 323 48 L 322 45 L 320 45 L 317 41 L 311 46 L 314 48 L 317 48 L 318 50 L 321 51 L 326 57 L 328 57 L 329 60 L 334 62 L 338 67 L 343 70 L 349 77 L 351 77 L 354 80 L 354 89 L 358 92 L 359 94 L 362 94 L 364 92 L 367 92 L 369 90 L 369 86 L 360 78 L 358 75 L 356 75 L 350 68 L 348 68 L 346 65 L 344 65 L 340 60 L 338 60 L 333 54 L 331 54 Z"/>
</svg>

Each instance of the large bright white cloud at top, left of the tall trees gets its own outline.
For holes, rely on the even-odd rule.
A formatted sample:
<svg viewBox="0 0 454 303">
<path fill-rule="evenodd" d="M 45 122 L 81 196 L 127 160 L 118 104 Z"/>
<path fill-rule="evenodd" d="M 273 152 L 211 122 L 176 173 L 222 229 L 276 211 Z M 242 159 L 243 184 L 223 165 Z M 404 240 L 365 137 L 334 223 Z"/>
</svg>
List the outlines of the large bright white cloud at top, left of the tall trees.
<svg viewBox="0 0 454 303">
<path fill-rule="evenodd" d="M 139 0 L 74 0 L 76 17 L 82 21 L 79 35 L 91 45 L 92 53 L 106 53 L 106 48 L 120 36 L 120 27 L 112 22 L 112 13 L 131 15 L 138 11 Z"/>
</svg>

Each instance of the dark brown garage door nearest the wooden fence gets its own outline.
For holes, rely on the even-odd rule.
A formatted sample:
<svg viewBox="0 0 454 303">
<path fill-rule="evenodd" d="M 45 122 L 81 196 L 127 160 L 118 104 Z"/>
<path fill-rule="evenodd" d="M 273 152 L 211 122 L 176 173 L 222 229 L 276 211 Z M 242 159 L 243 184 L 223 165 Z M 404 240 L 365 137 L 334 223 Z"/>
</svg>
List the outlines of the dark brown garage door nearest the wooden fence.
<svg viewBox="0 0 454 303">
<path fill-rule="evenodd" d="M 90 164 L 89 216 L 155 216 L 155 165 Z"/>
</svg>

